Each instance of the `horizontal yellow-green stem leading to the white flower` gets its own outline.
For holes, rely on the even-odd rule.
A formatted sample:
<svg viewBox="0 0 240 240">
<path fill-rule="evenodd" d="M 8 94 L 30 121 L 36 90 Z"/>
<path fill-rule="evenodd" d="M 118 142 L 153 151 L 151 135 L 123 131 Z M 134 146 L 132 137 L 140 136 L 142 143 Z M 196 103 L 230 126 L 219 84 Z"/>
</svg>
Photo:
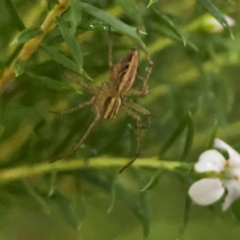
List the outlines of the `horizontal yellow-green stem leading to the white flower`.
<svg viewBox="0 0 240 240">
<path fill-rule="evenodd" d="M 77 169 L 104 169 L 104 168 L 121 168 L 129 160 L 124 158 L 111 159 L 111 158 L 94 158 L 89 159 L 88 162 L 79 159 L 73 160 L 60 160 L 54 163 L 41 163 L 33 166 L 24 166 L 10 168 L 0 171 L 0 183 L 10 182 L 18 179 L 24 179 L 36 175 L 42 175 L 51 172 L 63 172 Z M 134 162 L 131 167 L 150 168 L 150 169 L 167 169 L 174 171 L 179 167 L 186 167 L 190 164 L 178 161 L 163 161 L 156 158 L 142 158 Z M 123 173 L 124 174 L 124 173 Z"/>
</svg>

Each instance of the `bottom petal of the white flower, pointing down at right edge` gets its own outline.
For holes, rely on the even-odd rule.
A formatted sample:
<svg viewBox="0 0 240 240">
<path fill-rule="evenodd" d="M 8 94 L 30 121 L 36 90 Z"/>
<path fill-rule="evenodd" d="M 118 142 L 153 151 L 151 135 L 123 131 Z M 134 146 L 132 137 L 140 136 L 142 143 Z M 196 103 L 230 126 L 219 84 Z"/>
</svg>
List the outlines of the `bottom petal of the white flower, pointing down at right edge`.
<svg viewBox="0 0 240 240">
<path fill-rule="evenodd" d="M 225 201 L 222 205 L 222 210 L 225 211 L 234 200 L 240 197 L 240 181 L 239 180 L 223 180 L 224 185 L 228 190 Z"/>
</svg>

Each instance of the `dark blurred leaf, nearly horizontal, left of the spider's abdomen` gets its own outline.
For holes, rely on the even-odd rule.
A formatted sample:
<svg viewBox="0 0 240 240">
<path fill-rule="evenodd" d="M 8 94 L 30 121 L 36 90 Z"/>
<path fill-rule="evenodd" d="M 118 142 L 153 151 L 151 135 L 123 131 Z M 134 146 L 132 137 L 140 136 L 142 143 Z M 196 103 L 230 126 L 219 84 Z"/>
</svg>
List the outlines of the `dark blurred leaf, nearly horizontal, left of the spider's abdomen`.
<svg viewBox="0 0 240 240">
<path fill-rule="evenodd" d="M 52 78 L 39 75 L 35 72 L 26 72 L 26 75 L 31 80 L 29 82 L 35 85 L 45 86 L 47 88 L 58 90 L 58 91 L 76 92 L 74 88 L 67 83 L 56 81 Z"/>
</svg>

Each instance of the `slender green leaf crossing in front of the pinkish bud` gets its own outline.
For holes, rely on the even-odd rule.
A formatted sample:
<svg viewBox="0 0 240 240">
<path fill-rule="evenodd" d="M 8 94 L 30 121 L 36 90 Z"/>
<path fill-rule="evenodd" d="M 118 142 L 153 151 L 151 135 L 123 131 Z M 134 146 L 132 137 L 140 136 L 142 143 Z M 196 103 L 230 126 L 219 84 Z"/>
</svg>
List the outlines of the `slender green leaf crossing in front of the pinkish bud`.
<svg viewBox="0 0 240 240">
<path fill-rule="evenodd" d="M 213 5 L 212 2 L 209 0 L 197 0 L 216 20 L 226 29 L 228 30 L 230 36 L 232 39 L 234 39 L 234 36 L 232 34 L 232 30 L 229 27 L 225 16 L 219 11 L 219 9 Z"/>
</svg>

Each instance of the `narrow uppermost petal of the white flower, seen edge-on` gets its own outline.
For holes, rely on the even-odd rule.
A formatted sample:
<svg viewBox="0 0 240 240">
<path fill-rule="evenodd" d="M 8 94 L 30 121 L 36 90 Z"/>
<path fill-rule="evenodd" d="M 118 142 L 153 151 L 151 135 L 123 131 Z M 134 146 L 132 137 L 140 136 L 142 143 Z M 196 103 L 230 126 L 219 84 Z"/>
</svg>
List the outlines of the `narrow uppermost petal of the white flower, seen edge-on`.
<svg viewBox="0 0 240 240">
<path fill-rule="evenodd" d="M 214 147 L 222 148 L 228 152 L 230 165 L 240 164 L 240 154 L 221 139 L 215 138 Z"/>
</svg>

